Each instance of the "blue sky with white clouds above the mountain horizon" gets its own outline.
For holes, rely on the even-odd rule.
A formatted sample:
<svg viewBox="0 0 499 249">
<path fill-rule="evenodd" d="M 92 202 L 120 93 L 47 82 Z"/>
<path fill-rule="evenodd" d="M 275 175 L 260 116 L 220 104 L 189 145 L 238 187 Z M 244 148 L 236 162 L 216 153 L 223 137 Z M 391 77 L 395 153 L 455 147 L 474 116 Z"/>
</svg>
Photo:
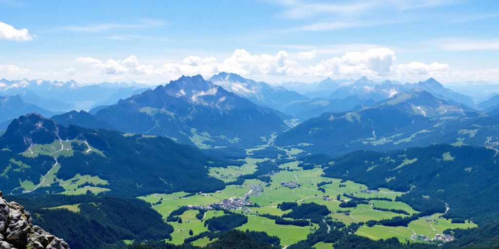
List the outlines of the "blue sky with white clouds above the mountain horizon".
<svg viewBox="0 0 499 249">
<path fill-rule="evenodd" d="M 497 0 L 0 0 L 0 78 L 499 82 Z"/>
</svg>

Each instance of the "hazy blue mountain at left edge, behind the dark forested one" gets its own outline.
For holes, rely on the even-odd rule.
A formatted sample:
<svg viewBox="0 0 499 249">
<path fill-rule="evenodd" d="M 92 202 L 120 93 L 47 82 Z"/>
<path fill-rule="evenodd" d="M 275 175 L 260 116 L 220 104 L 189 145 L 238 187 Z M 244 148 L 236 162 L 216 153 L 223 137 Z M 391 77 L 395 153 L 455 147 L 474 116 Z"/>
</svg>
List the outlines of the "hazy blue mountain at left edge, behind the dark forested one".
<svg viewBox="0 0 499 249">
<path fill-rule="evenodd" d="M 0 123 L 28 113 L 38 113 L 45 116 L 53 115 L 50 111 L 25 103 L 19 95 L 0 96 Z"/>
</svg>

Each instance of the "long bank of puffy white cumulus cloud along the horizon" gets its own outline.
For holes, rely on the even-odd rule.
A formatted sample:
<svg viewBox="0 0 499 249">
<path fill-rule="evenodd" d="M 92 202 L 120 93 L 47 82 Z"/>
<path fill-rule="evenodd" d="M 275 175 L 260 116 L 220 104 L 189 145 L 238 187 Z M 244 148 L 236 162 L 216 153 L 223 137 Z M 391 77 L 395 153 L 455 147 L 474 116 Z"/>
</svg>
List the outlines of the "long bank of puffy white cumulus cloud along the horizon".
<svg viewBox="0 0 499 249">
<path fill-rule="evenodd" d="M 245 49 L 235 50 L 231 56 L 222 61 L 215 57 L 189 56 L 185 59 L 159 66 L 141 63 L 136 56 L 131 55 L 123 60 L 109 59 L 107 61 L 81 57 L 76 59 L 90 67 L 86 75 L 92 78 L 105 78 L 122 81 L 156 80 L 165 82 L 182 75 L 201 74 L 210 77 L 219 72 L 241 74 L 248 78 L 286 80 L 317 80 L 331 78 L 358 78 L 367 76 L 378 79 L 422 80 L 435 77 L 439 80 L 497 79 L 491 74 L 497 71 L 457 71 L 450 65 L 441 62 L 423 63 L 413 61 L 407 64 L 397 64 L 396 53 L 386 47 L 369 48 L 364 51 L 346 52 L 342 56 L 330 57 L 314 64 L 303 65 L 314 56 L 321 56 L 322 50 L 303 51 L 291 58 L 286 51 L 278 51 L 274 55 L 251 54 Z M 328 52 L 324 50 L 324 52 Z M 84 69 L 83 69 L 84 70 Z M 65 74 L 74 73 L 67 69 Z M 82 70 L 79 70 L 81 72 Z M 81 74 L 78 74 L 81 75 Z M 488 75 L 488 76 L 485 76 Z"/>
</svg>

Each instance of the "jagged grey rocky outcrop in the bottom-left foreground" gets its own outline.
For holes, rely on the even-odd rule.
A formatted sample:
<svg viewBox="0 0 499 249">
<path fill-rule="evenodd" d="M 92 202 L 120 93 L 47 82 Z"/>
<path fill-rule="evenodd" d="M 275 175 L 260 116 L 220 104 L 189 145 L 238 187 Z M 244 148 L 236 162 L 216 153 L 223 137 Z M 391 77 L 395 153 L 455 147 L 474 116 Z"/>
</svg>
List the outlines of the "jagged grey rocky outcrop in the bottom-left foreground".
<svg viewBox="0 0 499 249">
<path fill-rule="evenodd" d="M 0 249 L 69 249 L 64 240 L 31 224 L 24 208 L 3 199 L 0 191 Z"/>
</svg>

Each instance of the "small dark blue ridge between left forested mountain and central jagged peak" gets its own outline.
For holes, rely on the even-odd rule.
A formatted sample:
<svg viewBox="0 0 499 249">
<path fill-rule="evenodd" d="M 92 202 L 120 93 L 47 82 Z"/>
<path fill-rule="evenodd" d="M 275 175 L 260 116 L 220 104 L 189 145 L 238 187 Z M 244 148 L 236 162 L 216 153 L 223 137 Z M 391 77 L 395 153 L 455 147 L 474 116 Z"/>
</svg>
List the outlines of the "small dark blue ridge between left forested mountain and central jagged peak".
<svg viewBox="0 0 499 249">
<path fill-rule="evenodd" d="M 85 111 L 80 111 L 80 112 L 71 111 L 68 113 L 52 116 L 50 119 L 66 127 L 73 124 L 86 128 L 103 128 L 103 129 L 118 130 L 113 125 L 108 124 L 105 121 L 99 120 L 94 115 L 91 115 Z"/>
</svg>

